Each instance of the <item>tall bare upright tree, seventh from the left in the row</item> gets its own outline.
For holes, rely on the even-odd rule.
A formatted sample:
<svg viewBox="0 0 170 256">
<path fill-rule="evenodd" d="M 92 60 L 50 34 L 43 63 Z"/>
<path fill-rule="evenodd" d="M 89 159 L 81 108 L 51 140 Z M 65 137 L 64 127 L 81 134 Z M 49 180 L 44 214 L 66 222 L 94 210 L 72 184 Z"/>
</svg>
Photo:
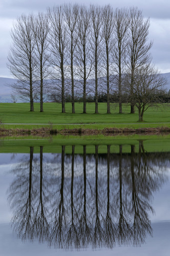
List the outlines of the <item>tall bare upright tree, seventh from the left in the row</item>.
<svg viewBox="0 0 170 256">
<path fill-rule="evenodd" d="M 114 27 L 114 22 L 113 22 L 113 10 L 112 8 L 107 5 L 104 6 L 102 9 L 102 15 L 103 15 L 103 20 L 102 20 L 102 37 L 104 41 L 104 47 L 105 47 L 105 53 L 104 53 L 104 61 L 106 63 L 106 85 L 107 85 L 107 113 L 110 114 L 110 104 L 109 104 L 109 91 L 110 91 L 110 84 L 109 84 L 109 67 L 110 67 L 110 62 L 109 62 L 109 57 L 110 57 L 110 52 L 113 46 L 113 27 Z"/>
</svg>

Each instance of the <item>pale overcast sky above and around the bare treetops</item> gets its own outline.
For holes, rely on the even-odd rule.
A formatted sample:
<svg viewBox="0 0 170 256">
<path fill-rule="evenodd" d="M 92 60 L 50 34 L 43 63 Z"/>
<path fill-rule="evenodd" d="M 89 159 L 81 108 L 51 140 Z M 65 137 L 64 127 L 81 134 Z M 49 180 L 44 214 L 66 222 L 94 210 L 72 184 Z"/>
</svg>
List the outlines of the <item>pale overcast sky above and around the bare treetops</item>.
<svg viewBox="0 0 170 256">
<path fill-rule="evenodd" d="M 150 18 L 149 39 L 155 66 L 162 73 L 170 72 L 170 1 L 169 0 L 0 0 L 0 77 L 11 77 L 6 68 L 12 22 L 22 13 L 45 11 L 47 7 L 63 3 L 110 4 L 113 8 L 137 7 Z"/>
</svg>

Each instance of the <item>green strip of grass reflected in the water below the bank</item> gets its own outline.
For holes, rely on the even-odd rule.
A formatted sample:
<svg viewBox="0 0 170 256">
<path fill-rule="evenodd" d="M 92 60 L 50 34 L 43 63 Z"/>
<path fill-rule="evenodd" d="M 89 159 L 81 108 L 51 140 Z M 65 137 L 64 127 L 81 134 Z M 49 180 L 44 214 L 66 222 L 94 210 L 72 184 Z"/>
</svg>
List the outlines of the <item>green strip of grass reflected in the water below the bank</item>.
<svg viewBox="0 0 170 256">
<path fill-rule="evenodd" d="M 83 153 L 83 145 L 86 145 L 87 154 L 95 153 L 95 145 L 98 145 L 98 153 L 106 153 L 107 145 L 110 145 L 111 153 L 119 152 L 119 145 L 123 153 L 130 153 L 130 145 L 135 145 L 138 152 L 138 142 L 142 140 L 146 152 L 170 152 L 170 135 L 129 135 L 129 136 L 52 136 L 39 137 L 5 137 L 0 140 L 0 153 L 29 153 L 29 147 L 34 147 L 34 153 L 39 153 L 39 147 L 43 146 L 44 153 L 61 153 L 61 146 L 65 146 L 65 153 L 71 153 L 71 146 L 75 145 L 75 153 Z"/>
</svg>

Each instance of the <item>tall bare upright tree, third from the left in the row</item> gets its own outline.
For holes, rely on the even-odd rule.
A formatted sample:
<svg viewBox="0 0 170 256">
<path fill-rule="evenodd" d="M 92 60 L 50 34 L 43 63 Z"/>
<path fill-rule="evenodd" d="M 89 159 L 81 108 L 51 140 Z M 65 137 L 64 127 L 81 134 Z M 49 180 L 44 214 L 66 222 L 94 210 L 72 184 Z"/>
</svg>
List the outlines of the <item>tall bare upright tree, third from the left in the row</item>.
<svg viewBox="0 0 170 256">
<path fill-rule="evenodd" d="M 56 6 L 48 9 L 50 19 L 50 65 L 52 67 L 51 77 L 55 79 L 58 86 L 61 87 L 62 113 L 65 113 L 64 103 L 64 64 L 66 55 L 66 25 L 63 20 L 62 6 Z"/>
</svg>

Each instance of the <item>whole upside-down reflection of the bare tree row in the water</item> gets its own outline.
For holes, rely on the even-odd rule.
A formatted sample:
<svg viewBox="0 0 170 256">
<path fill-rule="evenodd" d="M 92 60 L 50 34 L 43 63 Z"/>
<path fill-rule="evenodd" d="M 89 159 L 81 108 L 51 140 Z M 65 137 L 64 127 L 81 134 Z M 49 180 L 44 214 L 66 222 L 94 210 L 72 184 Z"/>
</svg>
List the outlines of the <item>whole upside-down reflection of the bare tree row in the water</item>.
<svg viewBox="0 0 170 256">
<path fill-rule="evenodd" d="M 56 248 L 140 245 L 152 234 L 150 200 L 165 180 L 167 162 L 161 153 L 146 154 L 139 141 L 138 154 L 83 156 L 54 154 L 24 158 L 11 170 L 15 174 L 8 190 L 13 230 L 25 240 L 47 241 Z M 159 167 L 158 167 L 159 162 Z"/>
</svg>

